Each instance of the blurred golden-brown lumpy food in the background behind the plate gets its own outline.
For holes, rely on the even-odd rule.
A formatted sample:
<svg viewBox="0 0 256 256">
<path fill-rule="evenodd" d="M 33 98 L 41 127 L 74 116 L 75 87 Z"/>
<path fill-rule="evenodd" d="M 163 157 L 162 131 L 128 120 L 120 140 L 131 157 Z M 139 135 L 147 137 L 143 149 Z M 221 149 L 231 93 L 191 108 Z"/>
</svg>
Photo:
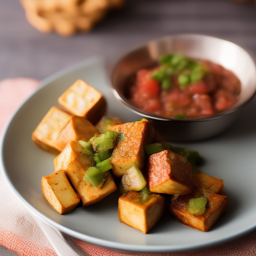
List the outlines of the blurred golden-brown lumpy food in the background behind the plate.
<svg viewBox="0 0 256 256">
<path fill-rule="evenodd" d="M 27 21 L 41 32 L 64 36 L 88 32 L 124 0 L 20 0 Z"/>
</svg>

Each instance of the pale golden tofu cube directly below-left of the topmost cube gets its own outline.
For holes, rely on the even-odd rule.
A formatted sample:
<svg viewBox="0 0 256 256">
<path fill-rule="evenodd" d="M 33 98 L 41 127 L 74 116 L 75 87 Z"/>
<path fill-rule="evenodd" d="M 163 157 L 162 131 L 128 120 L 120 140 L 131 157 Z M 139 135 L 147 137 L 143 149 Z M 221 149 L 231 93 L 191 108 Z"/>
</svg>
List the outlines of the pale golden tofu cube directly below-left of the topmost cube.
<svg viewBox="0 0 256 256">
<path fill-rule="evenodd" d="M 32 133 L 35 144 L 45 151 L 59 153 L 61 148 L 56 146 L 54 141 L 70 118 L 70 114 L 52 106 Z"/>
</svg>

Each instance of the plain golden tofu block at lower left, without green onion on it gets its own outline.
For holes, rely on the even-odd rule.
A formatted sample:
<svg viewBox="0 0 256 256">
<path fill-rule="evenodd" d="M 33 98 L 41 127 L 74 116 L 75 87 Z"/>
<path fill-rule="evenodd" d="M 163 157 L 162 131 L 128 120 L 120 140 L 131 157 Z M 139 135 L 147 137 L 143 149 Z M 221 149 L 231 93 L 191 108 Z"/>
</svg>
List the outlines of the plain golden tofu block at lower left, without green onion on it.
<svg viewBox="0 0 256 256">
<path fill-rule="evenodd" d="M 63 170 L 43 176 L 41 188 L 45 200 L 59 214 L 73 210 L 80 201 Z"/>
</svg>

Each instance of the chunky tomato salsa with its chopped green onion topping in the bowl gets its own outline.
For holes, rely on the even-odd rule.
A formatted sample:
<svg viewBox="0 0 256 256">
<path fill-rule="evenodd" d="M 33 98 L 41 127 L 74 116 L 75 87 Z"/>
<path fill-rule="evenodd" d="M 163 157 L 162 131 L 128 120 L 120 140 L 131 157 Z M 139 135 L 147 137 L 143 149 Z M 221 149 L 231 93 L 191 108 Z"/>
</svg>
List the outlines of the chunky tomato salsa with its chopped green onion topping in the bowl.
<svg viewBox="0 0 256 256">
<path fill-rule="evenodd" d="M 237 76 L 209 60 L 166 54 L 129 81 L 129 102 L 146 112 L 171 118 L 206 117 L 231 107 L 239 98 Z"/>
</svg>

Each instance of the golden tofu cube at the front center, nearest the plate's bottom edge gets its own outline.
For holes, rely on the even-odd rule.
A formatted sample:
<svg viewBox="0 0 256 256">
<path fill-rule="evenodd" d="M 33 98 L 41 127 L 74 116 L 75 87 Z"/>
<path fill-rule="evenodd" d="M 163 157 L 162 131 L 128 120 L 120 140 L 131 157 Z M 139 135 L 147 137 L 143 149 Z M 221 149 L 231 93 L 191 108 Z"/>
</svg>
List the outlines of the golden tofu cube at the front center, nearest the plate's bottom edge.
<svg viewBox="0 0 256 256">
<path fill-rule="evenodd" d="M 159 194 L 149 193 L 143 200 L 141 194 L 129 191 L 118 199 L 119 221 L 143 233 L 147 233 L 160 219 L 165 199 Z"/>
</svg>

